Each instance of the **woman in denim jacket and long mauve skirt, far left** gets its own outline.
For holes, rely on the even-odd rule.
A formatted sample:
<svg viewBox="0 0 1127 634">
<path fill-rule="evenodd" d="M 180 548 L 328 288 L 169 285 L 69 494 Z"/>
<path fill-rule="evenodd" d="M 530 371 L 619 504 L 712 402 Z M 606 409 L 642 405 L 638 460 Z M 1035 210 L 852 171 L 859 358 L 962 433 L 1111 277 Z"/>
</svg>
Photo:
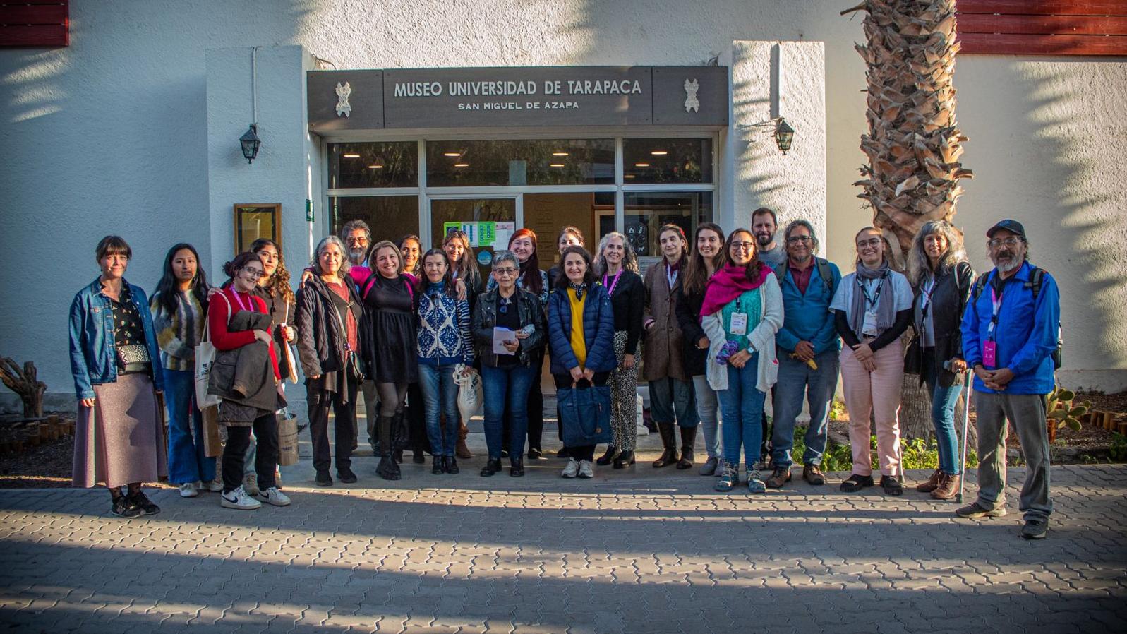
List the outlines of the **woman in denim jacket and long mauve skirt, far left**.
<svg viewBox="0 0 1127 634">
<path fill-rule="evenodd" d="M 141 483 L 168 475 L 157 405 L 165 390 L 160 349 L 149 299 L 124 278 L 132 255 L 124 239 L 103 238 L 96 250 L 101 275 L 76 293 L 70 309 L 71 373 L 79 402 L 73 483 L 105 484 L 110 512 L 123 518 L 159 513 Z M 128 485 L 125 492 L 122 485 Z"/>
</svg>

